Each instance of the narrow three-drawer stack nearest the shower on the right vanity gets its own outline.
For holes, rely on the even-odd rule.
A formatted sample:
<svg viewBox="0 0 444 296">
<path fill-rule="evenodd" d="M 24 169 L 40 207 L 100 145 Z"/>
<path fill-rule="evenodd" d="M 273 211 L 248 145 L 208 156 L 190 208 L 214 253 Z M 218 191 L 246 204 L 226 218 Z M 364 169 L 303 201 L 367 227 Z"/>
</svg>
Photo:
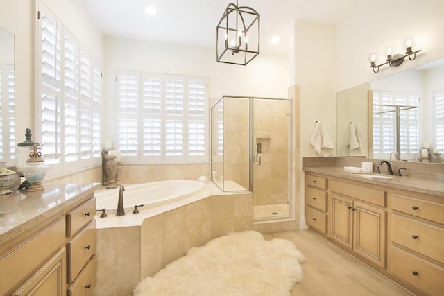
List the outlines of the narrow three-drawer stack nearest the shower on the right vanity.
<svg viewBox="0 0 444 296">
<path fill-rule="evenodd" d="M 327 234 L 327 179 L 315 175 L 305 177 L 305 217 L 307 224 Z"/>
</svg>

